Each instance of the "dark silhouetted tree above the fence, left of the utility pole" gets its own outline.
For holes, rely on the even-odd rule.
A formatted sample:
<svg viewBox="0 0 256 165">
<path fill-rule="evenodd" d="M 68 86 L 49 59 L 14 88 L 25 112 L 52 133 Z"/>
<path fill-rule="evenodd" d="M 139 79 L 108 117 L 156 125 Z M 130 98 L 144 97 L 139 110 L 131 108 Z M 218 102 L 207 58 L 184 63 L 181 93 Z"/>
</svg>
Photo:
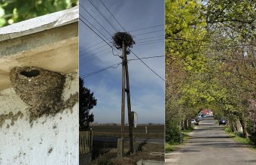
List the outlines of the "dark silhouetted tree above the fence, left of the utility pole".
<svg viewBox="0 0 256 165">
<path fill-rule="evenodd" d="M 97 100 L 90 89 L 84 87 L 84 80 L 79 77 L 79 127 L 88 128 L 90 122 L 94 121 L 93 113 L 90 110 L 96 106 Z"/>
</svg>

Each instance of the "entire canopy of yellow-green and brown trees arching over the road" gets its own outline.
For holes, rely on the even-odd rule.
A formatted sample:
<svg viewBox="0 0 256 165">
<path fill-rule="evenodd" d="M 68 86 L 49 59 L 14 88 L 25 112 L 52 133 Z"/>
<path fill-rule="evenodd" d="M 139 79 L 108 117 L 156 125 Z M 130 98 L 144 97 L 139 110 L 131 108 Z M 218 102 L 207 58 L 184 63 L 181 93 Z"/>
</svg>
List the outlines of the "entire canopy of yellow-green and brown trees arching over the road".
<svg viewBox="0 0 256 165">
<path fill-rule="evenodd" d="M 166 0 L 166 134 L 178 136 L 179 122 L 210 108 L 232 130 L 240 122 L 242 134 L 254 136 L 256 124 L 248 123 L 256 121 L 249 103 L 256 97 L 255 6 Z"/>
</svg>

